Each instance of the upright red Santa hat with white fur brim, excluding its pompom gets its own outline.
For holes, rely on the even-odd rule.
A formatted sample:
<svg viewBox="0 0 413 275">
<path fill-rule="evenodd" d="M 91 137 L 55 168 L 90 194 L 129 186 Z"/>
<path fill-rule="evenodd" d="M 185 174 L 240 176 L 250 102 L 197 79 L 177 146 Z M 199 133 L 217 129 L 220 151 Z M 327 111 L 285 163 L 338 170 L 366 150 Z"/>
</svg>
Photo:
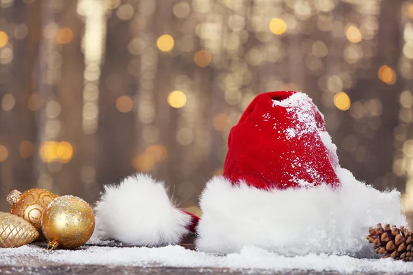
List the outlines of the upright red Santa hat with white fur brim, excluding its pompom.
<svg viewBox="0 0 413 275">
<path fill-rule="evenodd" d="M 228 144 L 223 176 L 200 198 L 199 250 L 357 253 L 371 247 L 371 225 L 405 224 L 399 192 L 379 192 L 339 166 L 323 115 L 306 94 L 260 94 Z"/>
</svg>

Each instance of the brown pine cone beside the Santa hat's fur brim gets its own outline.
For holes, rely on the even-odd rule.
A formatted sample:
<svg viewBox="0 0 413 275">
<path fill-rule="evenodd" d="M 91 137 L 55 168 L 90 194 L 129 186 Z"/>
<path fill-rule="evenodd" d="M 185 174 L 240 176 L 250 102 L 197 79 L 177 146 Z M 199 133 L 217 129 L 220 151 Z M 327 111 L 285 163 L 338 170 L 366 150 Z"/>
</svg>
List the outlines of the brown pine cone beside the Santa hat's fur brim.
<svg viewBox="0 0 413 275">
<path fill-rule="evenodd" d="M 374 245 L 374 251 L 381 254 L 383 258 L 392 257 L 394 260 L 405 262 L 413 261 L 413 241 L 412 232 L 401 226 L 396 228 L 392 225 L 385 224 L 384 228 L 381 223 L 377 224 L 377 228 L 370 228 L 366 239 Z"/>
</svg>

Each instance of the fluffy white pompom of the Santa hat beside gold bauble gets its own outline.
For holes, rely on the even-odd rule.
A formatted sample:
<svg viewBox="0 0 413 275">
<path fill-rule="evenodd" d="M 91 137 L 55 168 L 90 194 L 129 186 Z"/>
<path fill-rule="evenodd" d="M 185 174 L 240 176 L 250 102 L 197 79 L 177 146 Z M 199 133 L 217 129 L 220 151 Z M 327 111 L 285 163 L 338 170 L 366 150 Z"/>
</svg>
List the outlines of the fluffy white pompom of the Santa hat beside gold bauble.
<svg viewBox="0 0 413 275">
<path fill-rule="evenodd" d="M 143 174 L 105 186 L 95 210 L 98 238 L 129 245 L 179 243 L 191 223 L 188 214 L 173 206 L 164 184 Z"/>
</svg>

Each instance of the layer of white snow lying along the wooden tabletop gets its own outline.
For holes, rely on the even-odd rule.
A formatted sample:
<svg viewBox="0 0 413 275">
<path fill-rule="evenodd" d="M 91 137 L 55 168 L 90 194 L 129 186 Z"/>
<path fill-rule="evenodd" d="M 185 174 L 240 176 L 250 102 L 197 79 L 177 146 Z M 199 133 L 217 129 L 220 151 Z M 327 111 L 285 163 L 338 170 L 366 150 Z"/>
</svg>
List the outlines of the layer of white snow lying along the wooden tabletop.
<svg viewBox="0 0 413 275">
<path fill-rule="evenodd" d="M 43 263 L 69 265 L 127 265 L 143 267 L 229 268 L 231 270 L 313 270 L 352 272 L 410 273 L 413 263 L 392 259 L 355 259 L 350 256 L 316 255 L 286 257 L 260 248 L 245 247 L 240 253 L 219 256 L 186 250 L 178 245 L 163 248 L 109 248 L 83 246 L 81 250 L 47 251 L 38 245 L 0 249 L 0 266 L 17 265 L 19 260 L 31 257 Z M 25 261 L 23 261 L 25 263 Z"/>
</svg>

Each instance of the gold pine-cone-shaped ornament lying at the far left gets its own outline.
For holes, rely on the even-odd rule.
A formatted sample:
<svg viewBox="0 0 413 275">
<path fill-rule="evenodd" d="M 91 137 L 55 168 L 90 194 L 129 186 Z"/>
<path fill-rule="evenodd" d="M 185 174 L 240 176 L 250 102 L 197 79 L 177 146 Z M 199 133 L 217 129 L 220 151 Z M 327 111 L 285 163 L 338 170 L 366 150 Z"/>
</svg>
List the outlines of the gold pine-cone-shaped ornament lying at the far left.
<svg viewBox="0 0 413 275">
<path fill-rule="evenodd" d="M 39 232 L 28 221 L 0 212 L 0 248 L 17 248 L 32 243 L 38 237 Z"/>
</svg>

